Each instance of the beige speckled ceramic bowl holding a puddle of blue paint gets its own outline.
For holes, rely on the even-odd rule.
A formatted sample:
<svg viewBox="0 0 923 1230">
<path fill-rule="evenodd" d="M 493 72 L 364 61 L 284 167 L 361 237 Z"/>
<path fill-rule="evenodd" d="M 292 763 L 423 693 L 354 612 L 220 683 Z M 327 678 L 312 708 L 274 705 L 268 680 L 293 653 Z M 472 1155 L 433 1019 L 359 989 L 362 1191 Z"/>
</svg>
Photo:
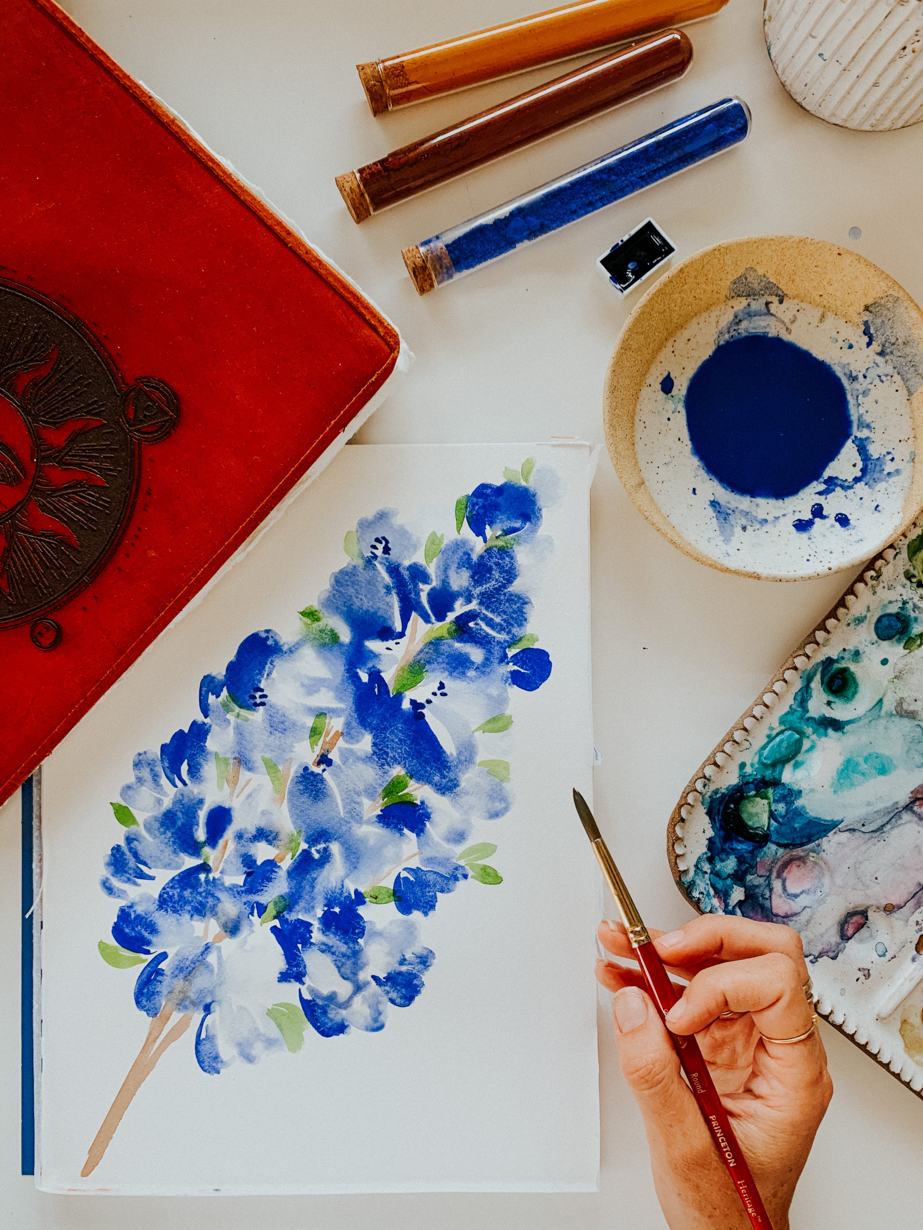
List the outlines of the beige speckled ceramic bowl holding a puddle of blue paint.
<svg viewBox="0 0 923 1230">
<path fill-rule="evenodd" d="M 603 408 L 634 503 L 714 568 L 857 567 L 923 508 L 923 312 L 833 244 L 731 240 L 677 266 L 625 322 Z"/>
</svg>

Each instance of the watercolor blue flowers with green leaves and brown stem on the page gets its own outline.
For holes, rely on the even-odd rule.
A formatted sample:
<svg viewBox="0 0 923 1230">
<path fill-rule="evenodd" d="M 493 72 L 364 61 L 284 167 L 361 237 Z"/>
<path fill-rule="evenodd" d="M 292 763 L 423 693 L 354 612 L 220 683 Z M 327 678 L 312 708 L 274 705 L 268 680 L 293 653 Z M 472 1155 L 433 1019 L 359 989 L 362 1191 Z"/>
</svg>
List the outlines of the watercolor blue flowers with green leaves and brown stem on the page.
<svg viewBox="0 0 923 1230">
<path fill-rule="evenodd" d="M 516 771 L 496 745 L 511 696 L 554 670 L 521 569 L 543 524 L 534 467 L 447 499 L 426 539 L 391 508 L 345 526 L 298 633 L 251 632 L 202 678 L 188 726 L 134 755 L 111 802 L 98 952 L 132 972 L 117 994 L 146 1033 L 84 1177 L 183 1036 L 217 1077 L 297 1054 L 306 1032 L 379 1032 L 425 993 L 441 902 L 503 892 L 490 827 Z M 267 1002 L 241 995 L 255 961 Z"/>
</svg>

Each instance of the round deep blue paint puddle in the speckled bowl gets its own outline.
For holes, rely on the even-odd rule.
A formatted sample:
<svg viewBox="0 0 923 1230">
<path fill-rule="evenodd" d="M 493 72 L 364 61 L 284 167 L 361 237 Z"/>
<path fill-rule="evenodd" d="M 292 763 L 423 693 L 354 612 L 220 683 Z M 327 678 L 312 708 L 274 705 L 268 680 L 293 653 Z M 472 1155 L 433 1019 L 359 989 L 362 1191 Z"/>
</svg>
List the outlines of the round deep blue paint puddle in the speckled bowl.
<svg viewBox="0 0 923 1230">
<path fill-rule="evenodd" d="M 794 342 L 761 335 L 725 342 L 700 364 L 685 418 L 709 474 L 741 496 L 772 499 L 821 478 L 853 430 L 833 368 Z"/>
</svg>

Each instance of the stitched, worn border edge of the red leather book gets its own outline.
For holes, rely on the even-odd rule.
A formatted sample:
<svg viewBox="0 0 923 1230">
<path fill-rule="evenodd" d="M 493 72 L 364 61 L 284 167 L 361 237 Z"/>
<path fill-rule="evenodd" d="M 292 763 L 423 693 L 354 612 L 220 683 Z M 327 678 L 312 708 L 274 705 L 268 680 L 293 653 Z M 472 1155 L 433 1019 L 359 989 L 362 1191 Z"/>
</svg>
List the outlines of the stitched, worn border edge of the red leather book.
<svg viewBox="0 0 923 1230">
<path fill-rule="evenodd" d="M 242 558 L 256 546 L 262 535 L 283 515 L 290 503 L 310 485 L 316 475 L 326 467 L 346 444 L 347 439 L 366 423 L 378 406 L 390 395 L 391 390 L 386 385 L 395 371 L 406 373 L 414 362 L 412 352 L 388 316 L 359 289 L 348 274 L 310 244 L 300 228 L 278 210 L 260 188 L 247 181 L 226 159 L 215 154 L 177 112 L 148 90 L 146 86 L 126 73 L 54 0 L 28 0 L 28 2 L 34 9 L 41 10 L 47 20 L 58 25 L 86 54 L 97 60 L 137 102 L 145 107 L 164 127 L 178 138 L 190 153 L 220 180 L 225 188 L 233 192 L 263 225 L 272 230 L 282 242 L 290 247 L 294 253 L 350 304 L 366 323 L 385 341 L 391 353 L 388 362 L 367 381 L 352 401 L 331 419 L 321 435 L 318 437 L 318 440 L 292 465 L 286 477 L 254 508 L 251 515 L 215 550 L 198 572 L 187 581 L 172 601 L 165 605 L 160 614 L 138 633 L 112 665 L 103 672 L 95 686 L 86 692 L 80 702 L 71 706 L 38 743 L 34 750 L 0 782 L 0 806 L 15 793 L 30 774 L 57 747 L 68 731 L 92 708 L 96 701 L 118 683 L 126 672 L 130 670 L 132 664 L 148 646 L 175 622 L 178 622 L 186 610 L 198 605 L 212 587 L 234 567 L 238 560 Z M 361 408 L 354 415 L 351 415 L 351 408 L 357 402 L 362 403 L 363 399 L 367 399 L 364 405 L 361 405 Z M 290 476 L 300 470 L 302 464 L 310 456 L 313 449 L 340 422 L 342 422 L 342 427 L 334 440 L 289 485 Z M 276 492 L 281 487 L 284 488 L 283 494 L 273 501 Z M 210 572 L 210 576 L 202 584 L 198 584 L 198 578 L 212 568 L 214 571 Z"/>
</svg>

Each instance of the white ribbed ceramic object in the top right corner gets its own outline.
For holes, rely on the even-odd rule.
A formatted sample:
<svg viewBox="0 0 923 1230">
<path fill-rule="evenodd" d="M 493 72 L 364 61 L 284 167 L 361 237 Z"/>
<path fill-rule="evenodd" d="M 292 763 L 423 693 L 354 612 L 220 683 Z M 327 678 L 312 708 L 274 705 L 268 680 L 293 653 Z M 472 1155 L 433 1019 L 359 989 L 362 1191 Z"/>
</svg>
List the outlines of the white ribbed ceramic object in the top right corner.
<svg viewBox="0 0 923 1230">
<path fill-rule="evenodd" d="M 764 0 L 763 31 L 813 116 L 875 132 L 923 119 L 923 0 Z"/>
</svg>

